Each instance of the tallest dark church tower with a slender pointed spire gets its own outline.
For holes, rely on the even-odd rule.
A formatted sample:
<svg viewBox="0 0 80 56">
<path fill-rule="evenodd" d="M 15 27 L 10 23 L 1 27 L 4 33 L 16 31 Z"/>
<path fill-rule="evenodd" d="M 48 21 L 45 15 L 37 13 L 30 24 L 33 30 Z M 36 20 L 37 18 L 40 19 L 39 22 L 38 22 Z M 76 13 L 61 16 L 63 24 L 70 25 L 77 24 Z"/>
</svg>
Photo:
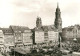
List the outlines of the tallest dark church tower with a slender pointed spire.
<svg viewBox="0 0 80 56">
<path fill-rule="evenodd" d="M 61 12 L 60 12 L 58 3 L 57 3 L 56 12 L 55 12 L 54 26 L 56 29 L 58 29 L 59 32 L 62 32 L 62 19 L 61 19 Z"/>
</svg>

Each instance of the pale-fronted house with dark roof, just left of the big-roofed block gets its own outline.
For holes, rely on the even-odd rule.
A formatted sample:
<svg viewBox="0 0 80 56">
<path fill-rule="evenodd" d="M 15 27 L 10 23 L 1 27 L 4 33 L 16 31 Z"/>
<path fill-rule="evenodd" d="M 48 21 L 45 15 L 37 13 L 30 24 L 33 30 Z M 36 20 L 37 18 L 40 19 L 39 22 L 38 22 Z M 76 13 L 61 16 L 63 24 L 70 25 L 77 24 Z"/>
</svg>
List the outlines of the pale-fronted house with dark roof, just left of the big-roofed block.
<svg viewBox="0 0 80 56">
<path fill-rule="evenodd" d="M 14 35 L 11 29 L 3 28 L 2 29 L 4 34 L 4 48 L 5 51 L 10 51 L 10 48 L 14 47 Z"/>
</svg>

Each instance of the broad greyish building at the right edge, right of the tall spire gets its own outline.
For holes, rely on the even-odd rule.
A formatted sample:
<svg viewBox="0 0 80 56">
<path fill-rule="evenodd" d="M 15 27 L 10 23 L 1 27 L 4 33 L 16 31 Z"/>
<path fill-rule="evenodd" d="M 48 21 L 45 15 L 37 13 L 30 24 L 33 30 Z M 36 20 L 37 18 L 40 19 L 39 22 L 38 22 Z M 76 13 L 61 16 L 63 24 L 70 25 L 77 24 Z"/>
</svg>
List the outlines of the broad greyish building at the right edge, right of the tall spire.
<svg viewBox="0 0 80 56">
<path fill-rule="evenodd" d="M 62 37 L 64 40 L 80 40 L 80 25 L 69 26 L 62 29 Z"/>
</svg>

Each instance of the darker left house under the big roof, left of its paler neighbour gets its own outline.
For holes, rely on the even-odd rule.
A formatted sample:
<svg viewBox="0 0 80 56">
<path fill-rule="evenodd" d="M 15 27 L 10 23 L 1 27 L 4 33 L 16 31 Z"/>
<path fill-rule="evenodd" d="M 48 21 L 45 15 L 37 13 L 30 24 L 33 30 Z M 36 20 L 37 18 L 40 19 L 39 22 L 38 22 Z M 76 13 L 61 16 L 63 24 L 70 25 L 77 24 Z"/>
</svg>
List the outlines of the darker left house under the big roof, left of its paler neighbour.
<svg viewBox="0 0 80 56">
<path fill-rule="evenodd" d="M 13 30 L 13 34 L 15 37 L 15 46 L 22 47 L 23 46 L 23 37 L 22 37 L 22 29 L 20 26 L 10 26 L 11 30 Z"/>
</svg>

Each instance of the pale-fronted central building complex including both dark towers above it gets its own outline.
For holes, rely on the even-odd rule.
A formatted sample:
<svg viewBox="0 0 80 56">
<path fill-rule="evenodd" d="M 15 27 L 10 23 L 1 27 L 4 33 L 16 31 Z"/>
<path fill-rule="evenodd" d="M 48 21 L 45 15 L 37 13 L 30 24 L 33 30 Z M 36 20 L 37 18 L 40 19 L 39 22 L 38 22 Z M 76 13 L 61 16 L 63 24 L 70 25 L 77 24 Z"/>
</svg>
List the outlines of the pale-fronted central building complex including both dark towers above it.
<svg viewBox="0 0 80 56">
<path fill-rule="evenodd" d="M 37 17 L 36 27 L 33 29 L 33 43 L 41 44 L 58 42 L 61 33 L 62 19 L 60 8 L 57 4 L 54 25 L 43 26 L 41 17 Z"/>
</svg>

